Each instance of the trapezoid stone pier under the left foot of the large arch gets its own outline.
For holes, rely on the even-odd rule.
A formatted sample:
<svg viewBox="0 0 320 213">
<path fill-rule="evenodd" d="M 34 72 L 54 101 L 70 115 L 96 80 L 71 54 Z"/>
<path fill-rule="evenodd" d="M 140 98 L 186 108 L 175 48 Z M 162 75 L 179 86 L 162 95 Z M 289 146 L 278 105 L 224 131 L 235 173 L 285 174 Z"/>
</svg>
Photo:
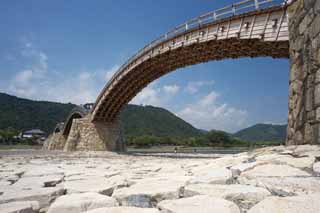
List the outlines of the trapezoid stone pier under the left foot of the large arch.
<svg viewBox="0 0 320 213">
<path fill-rule="evenodd" d="M 120 121 L 91 122 L 90 115 L 74 119 L 64 151 L 125 151 Z"/>
</svg>

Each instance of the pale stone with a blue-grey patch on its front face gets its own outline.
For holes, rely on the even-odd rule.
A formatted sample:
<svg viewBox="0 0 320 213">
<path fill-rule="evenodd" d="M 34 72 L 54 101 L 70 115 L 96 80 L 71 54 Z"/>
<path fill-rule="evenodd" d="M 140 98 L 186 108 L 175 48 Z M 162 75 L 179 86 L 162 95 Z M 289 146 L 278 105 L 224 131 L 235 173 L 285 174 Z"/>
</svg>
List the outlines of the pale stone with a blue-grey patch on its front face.
<svg viewBox="0 0 320 213">
<path fill-rule="evenodd" d="M 175 179 L 146 179 L 128 188 L 115 190 L 115 197 L 122 206 L 150 208 L 162 200 L 181 196 L 185 181 Z"/>
</svg>

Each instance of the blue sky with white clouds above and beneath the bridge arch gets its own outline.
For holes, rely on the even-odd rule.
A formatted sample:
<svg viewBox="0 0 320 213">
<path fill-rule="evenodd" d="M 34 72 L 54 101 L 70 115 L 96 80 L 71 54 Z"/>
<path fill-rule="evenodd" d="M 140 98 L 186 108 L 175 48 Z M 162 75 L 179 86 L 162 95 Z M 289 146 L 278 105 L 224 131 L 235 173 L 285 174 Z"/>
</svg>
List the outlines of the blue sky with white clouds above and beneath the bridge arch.
<svg viewBox="0 0 320 213">
<path fill-rule="evenodd" d="M 93 102 L 147 42 L 232 0 L 4 0 L 0 91 L 34 100 Z M 235 132 L 286 123 L 289 61 L 243 58 L 180 69 L 132 103 L 165 107 L 194 126 Z"/>
</svg>

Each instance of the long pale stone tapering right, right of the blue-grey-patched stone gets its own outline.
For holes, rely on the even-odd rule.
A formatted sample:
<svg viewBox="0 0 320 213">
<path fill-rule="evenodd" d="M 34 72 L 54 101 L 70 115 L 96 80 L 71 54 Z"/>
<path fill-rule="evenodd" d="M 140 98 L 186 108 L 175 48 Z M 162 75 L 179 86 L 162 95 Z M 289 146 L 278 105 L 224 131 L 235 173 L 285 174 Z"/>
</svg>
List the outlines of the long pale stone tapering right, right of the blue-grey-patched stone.
<svg viewBox="0 0 320 213">
<path fill-rule="evenodd" d="M 213 184 L 192 184 L 185 187 L 184 197 L 194 195 L 210 195 L 233 201 L 242 209 L 249 209 L 261 200 L 270 196 L 271 193 L 265 188 L 250 185 L 213 185 Z"/>
</svg>

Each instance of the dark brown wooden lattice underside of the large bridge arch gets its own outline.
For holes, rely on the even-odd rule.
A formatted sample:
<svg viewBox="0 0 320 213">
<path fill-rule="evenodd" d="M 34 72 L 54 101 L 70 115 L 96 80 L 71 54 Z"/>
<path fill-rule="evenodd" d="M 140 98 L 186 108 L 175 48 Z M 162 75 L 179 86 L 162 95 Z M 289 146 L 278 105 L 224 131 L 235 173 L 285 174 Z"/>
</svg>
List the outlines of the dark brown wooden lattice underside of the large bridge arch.
<svg viewBox="0 0 320 213">
<path fill-rule="evenodd" d="M 114 121 L 122 107 L 149 83 L 178 68 L 212 60 L 264 56 L 289 58 L 289 42 L 231 38 L 181 46 L 160 54 L 136 66 L 115 87 L 109 88 L 109 95 L 98 107 L 94 121 Z"/>
</svg>

